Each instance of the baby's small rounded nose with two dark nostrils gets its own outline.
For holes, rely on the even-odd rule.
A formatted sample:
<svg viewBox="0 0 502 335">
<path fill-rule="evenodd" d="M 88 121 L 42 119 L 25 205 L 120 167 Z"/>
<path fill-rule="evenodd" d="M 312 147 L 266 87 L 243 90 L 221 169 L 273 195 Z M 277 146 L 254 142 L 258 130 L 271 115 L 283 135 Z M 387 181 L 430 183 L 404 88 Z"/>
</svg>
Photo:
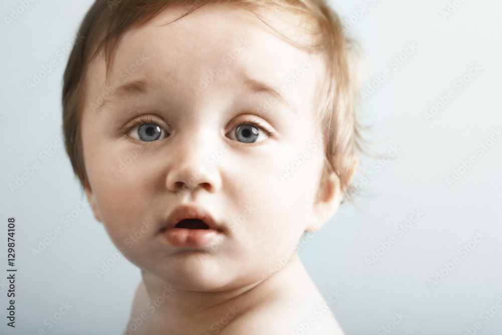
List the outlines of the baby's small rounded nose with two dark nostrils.
<svg viewBox="0 0 502 335">
<path fill-rule="evenodd" d="M 194 135 L 192 133 L 192 135 Z M 207 136 L 191 136 L 178 141 L 172 154 L 173 163 L 167 175 L 167 188 L 176 193 L 204 189 L 214 193 L 221 188 L 221 176 L 214 157 L 215 145 Z"/>
</svg>

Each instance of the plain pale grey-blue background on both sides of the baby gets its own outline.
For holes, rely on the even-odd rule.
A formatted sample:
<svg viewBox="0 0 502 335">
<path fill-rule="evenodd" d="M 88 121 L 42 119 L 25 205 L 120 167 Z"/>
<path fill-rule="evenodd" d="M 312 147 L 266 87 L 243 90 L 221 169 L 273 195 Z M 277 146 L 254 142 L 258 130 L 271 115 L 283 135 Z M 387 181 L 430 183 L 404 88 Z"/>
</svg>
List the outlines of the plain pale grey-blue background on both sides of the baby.
<svg viewBox="0 0 502 335">
<path fill-rule="evenodd" d="M 476 333 L 502 333 L 502 310 L 487 323 L 480 318 L 502 296 L 502 141 L 482 156 L 476 152 L 494 129 L 502 127 L 502 3 L 455 3 L 460 7 L 446 18 L 441 11 L 447 10 L 448 1 L 443 0 L 333 3 L 344 22 L 354 16 L 347 27 L 367 52 L 372 70 L 368 82 L 391 71 L 362 104 L 364 118 L 373 126 L 367 137 L 382 154 L 392 145 L 400 149 L 379 171 L 373 166 L 375 159 L 363 158 L 362 166 L 373 172 L 373 178 L 356 198 L 356 207 L 342 205 L 299 250 L 321 293 L 342 294 L 331 309 L 347 335 L 378 333 L 395 312 L 406 317 L 393 334 L 460 335 L 475 322 L 482 325 Z M 140 281 L 139 270 L 123 258 L 96 278 L 94 269 L 116 249 L 90 209 L 78 213 L 68 227 L 61 224 L 61 217 L 77 209 L 83 194 L 62 147 L 45 162 L 39 157 L 61 136 L 67 56 L 60 57 L 58 50 L 73 41 L 90 5 L 91 1 L 35 1 L 10 26 L 4 16 L 20 3 L 0 5 L 0 259 L 7 258 L 7 217 L 15 216 L 19 269 L 15 329 L 6 326 L 7 280 L 0 279 L 1 333 L 31 334 L 39 328 L 48 334 L 121 333 Z M 357 11 L 363 5 L 367 11 L 361 15 Z M 393 68 L 390 62 L 409 43 L 417 50 Z M 57 66 L 30 91 L 26 81 L 52 59 Z M 455 80 L 473 64 L 481 70 L 457 91 Z M 427 122 L 424 113 L 448 90 L 454 97 Z M 449 186 L 445 178 L 471 155 L 475 163 Z M 34 162 L 41 167 L 12 193 L 9 183 Z M 423 215 L 397 238 L 395 227 L 412 210 Z M 62 233 L 35 258 L 31 249 L 56 226 L 62 226 Z M 462 258 L 458 249 L 481 231 L 486 237 Z M 392 236 L 396 243 L 368 268 L 365 258 Z M 460 264 L 431 288 L 429 279 L 453 257 Z M 0 271 L 5 273 L 7 265 L 2 264 Z M 44 319 L 67 301 L 72 305 L 68 313 L 48 329 Z"/>
</svg>

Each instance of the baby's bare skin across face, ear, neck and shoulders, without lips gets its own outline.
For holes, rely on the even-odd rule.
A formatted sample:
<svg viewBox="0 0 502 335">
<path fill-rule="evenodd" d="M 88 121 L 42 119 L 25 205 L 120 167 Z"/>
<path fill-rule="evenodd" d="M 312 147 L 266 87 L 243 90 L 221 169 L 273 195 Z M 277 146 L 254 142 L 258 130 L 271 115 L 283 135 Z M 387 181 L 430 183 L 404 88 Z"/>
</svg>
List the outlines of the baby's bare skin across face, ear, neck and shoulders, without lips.
<svg viewBox="0 0 502 335">
<path fill-rule="evenodd" d="M 203 7 L 165 25 L 182 13 L 168 9 L 127 32 L 107 83 L 102 58 L 86 76 L 85 191 L 112 242 L 142 270 L 131 320 L 144 313 L 143 321 L 133 333 L 289 335 L 312 317 L 310 333 L 342 334 L 329 309 L 318 317 L 323 298 L 295 253 L 342 197 L 334 175 L 318 192 L 324 149 L 313 116 L 323 61 L 243 9 Z M 294 25 L 280 28 L 298 37 Z M 146 123 L 157 139 L 140 136 Z M 250 123 L 256 141 L 242 142 L 237 128 Z M 163 228 L 180 204 L 210 212 L 219 239 L 169 242 Z"/>
</svg>

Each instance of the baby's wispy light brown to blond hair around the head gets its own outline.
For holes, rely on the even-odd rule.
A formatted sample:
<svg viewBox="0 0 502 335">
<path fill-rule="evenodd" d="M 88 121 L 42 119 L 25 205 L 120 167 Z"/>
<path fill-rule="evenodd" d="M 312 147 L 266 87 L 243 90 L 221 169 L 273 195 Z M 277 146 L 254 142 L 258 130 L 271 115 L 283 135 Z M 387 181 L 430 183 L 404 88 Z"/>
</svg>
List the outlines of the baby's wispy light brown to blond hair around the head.
<svg viewBox="0 0 502 335">
<path fill-rule="evenodd" d="M 119 38 L 129 29 L 140 28 L 169 6 L 186 6 L 179 19 L 206 4 L 232 3 L 257 13 L 276 9 L 303 14 L 312 18 L 307 25 L 314 36 L 311 45 L 298 45 L 321 53 L 325 58 L 326 82 L 319 91 L 319 106 L 314 116 L 323 133 L 325 164 L 319 180 L 318 196 L 327 190 L 325 178 L 333 173 L 345 194 L 353 191 L 350 177 L 356 162 L 355 150 L 361 149 L 361 126 L 356 117 L 359 98 L 356 44 L 345 36 L 338 15 L 324 0 L 96 0 L 87 12 L 79 36 L 84 40 L 75 44 L 68 59 L 63 78 L 63 135 L 73 171 L 81 185 L 88 184 L 81 140 L 80 120 L 85 96 L 84 77 L 92 59 L 104 53 L 106 74 Z M 264 21 L 265 22 L 265 21 Z"/>
</svg>

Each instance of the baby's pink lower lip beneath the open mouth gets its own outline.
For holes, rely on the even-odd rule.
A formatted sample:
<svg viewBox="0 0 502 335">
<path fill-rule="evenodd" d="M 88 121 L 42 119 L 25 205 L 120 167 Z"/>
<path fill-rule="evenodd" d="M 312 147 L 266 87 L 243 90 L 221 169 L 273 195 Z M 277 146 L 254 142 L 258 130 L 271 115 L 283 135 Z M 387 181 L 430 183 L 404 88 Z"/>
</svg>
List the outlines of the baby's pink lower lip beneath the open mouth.
<svg viewBox="0 0 502 335">
<path fill-rule="evenodd" d="M 216 241 L 221 231 L 217 229 L 170 228 L 163 234 L 173 247 L 203 248 Z"/>
</svg>

